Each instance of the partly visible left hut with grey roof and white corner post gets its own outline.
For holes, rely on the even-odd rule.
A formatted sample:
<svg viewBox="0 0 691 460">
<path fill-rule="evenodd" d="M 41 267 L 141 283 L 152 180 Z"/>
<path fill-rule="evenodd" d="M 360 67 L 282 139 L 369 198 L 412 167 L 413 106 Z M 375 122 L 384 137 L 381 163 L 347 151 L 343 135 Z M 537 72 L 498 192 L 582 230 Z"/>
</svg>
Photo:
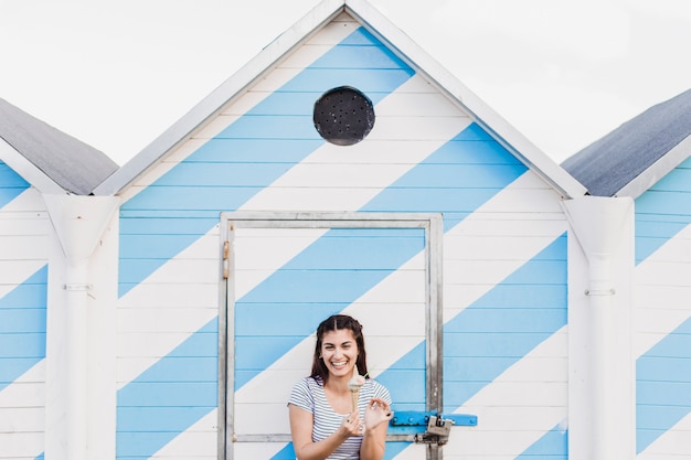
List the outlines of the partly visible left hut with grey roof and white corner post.
<svg viewBox="0 0 691 460">
<path fill-rule="evenodd" d="M 99 310 L 87 314 L 94 297 L 104 300 L 91 289 L 103 264 L 89 260 L 104 260 L 98 247 L 118 199 L 88 195 L 117 168 L 0 99 L 0 458 L 42 456 L 75 432 L 87 400 L 98 408 L 85 394 L 87 366 L 98 375 L 98 341 L 86 343 L 89 330 L 103 330 Z"/>
</svg>

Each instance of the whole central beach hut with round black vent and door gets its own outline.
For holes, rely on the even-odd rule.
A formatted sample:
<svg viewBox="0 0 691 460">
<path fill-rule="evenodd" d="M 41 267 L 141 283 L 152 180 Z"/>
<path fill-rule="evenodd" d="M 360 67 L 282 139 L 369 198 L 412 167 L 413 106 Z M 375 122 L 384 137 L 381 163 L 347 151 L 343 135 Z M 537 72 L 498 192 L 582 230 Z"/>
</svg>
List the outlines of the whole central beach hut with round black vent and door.
<svg viewBox="0 0 691 460">
<path fill-rule="evenodd" d="M 118 459 L 294 458 L 337 312 L 393 395 L 386 458 L 589 442 L 585 188 L 366 1 L 319 3 L 94 193 L 121 199 Z"/>
</svg>

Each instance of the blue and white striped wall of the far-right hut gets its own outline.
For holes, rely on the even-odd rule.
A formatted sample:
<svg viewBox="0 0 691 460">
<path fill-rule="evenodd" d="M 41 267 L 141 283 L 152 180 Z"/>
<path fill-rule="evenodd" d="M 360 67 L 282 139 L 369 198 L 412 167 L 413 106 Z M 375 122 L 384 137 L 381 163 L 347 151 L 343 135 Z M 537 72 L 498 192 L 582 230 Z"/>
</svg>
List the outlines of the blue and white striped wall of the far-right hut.
<svg viewBox="0 0 691 460">
<path fill-rule="evenodd" d="M 691 452 L 691 160 L 636 200 L 636 452 Z"/>
</svg>

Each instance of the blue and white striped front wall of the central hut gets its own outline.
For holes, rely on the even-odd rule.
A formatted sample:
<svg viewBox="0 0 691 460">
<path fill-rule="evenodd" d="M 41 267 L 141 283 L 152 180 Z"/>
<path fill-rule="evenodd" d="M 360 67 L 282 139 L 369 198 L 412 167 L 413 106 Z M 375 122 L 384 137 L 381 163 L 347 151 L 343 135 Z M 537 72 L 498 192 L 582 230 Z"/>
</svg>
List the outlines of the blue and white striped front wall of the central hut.
<svg viewBox="0 0 691 460">
<path fill-rule="evenodd" d="M 366 94 L 376 113 L 370 136 L 348 148 L 323 141 L 311 121 L 313 101 L 341 85 Z M 216 458 L 220 213 L 294 211 L 443 213 L 443 409 L 480 419 L 477 427 L 454 428 L 444 457 L 566 458 L 568 236 L 561 196 L 348 14 L 301 44 L 123 196 L 118 459 Z M 325 237 L 308 235 L 279 255 L 259 253 L 265 271 L 240 300 L 276 297 L 265 281 L 319 255 Z M 404 321 L 364 313 L 362 299 L 391 293 L 386 284 L 419 256 L 413 245 L 390 260 L 383 279 L 343 287 L 342 311 L 363 312 L 376 336 L 396 336 Z M 252 313 L 243 318 L 253 321 Z M 317 319 L 284 319 L 285 334 L 295 340 L 274 341 L 267 332 L 267 346 L 252 355 L 254 367 L 238 368 L 231 383 L 236 424 L 248 431 L 264 424 L 269 432 L 288 434 L 285 400 L 293 382 L 268 375 L 306 368 Z M 254 321 L 267 321 L 263 310 Z M 395 359 L 370 351 L 375 376 L 394 400 L 406 391 L 396 372 L 419 360 L 423 346 L 415 333 L 398 339 Z M 259 392 L 277 402 L 251 411 Z M 232 449 L 240 459 L 291 456 L 285 441 Z M 386 456 L 419 454 L 419 446 L 391 442 Z"/>
</svg>

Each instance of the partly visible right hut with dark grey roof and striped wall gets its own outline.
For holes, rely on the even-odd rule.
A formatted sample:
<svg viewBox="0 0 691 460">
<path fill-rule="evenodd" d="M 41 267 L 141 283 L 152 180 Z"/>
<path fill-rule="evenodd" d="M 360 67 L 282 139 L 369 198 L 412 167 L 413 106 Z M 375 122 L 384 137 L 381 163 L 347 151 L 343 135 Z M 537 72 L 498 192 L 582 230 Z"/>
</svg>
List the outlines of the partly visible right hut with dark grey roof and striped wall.
<svg viewBox="0 0 691 460">
<path fill-rule="evenodd" d="M 635 201 L 636 458 L 691 452 L 691 90 L 563 163 L 588 193 Z M 631 321 L 632 320 L 632 321 Z"/>
</svg>

